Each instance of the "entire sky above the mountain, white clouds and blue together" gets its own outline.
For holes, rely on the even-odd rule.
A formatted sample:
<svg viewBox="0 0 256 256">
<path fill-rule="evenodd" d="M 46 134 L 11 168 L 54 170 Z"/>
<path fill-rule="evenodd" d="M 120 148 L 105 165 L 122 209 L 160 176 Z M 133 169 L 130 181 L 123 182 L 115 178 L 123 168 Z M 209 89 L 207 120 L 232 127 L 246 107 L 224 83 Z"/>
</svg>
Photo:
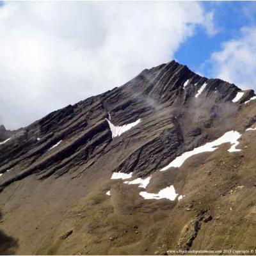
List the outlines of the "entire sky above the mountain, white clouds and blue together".
<svg viewBox="0 0 256 256">
<path fill-rule="evenodd" d="M 256 89 L 256 3 L 0 1 L 0 124 L 30 124 L 173 59 Z"/>
</svg>

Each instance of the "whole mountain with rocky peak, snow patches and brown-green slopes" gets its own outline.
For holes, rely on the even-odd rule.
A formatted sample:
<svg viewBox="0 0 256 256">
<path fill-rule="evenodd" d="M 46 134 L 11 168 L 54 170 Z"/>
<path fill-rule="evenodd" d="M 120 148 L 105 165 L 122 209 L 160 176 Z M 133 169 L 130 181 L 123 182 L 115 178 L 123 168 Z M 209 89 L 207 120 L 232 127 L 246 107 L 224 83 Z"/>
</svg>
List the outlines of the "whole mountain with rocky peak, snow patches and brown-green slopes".
<svg viewBox="0 0 256 256">
<path fill-rule="evenodd" d="M 171 61 L 1 138 L 0 252 L 256 249 L 255 99 Z"/>
</svg>

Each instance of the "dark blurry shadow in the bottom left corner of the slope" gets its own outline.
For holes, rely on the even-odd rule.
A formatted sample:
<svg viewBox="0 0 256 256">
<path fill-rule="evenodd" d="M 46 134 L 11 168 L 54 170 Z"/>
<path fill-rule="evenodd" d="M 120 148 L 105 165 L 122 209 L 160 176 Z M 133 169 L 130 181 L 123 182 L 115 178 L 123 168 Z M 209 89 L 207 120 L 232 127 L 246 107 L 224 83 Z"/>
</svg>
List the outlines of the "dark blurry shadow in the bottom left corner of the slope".
<svg viewBox="0 0 256 256">
<path fill-rule="evenodd" d="M 2 220 L 2 213 L 0 211 L 0 221 Z M 0 223 L 1 228 L 1 223 Z M 4 234 L 0 229 L 0 255 L 13 255 L 18 247 L 17 239 Z"/>
</svg>

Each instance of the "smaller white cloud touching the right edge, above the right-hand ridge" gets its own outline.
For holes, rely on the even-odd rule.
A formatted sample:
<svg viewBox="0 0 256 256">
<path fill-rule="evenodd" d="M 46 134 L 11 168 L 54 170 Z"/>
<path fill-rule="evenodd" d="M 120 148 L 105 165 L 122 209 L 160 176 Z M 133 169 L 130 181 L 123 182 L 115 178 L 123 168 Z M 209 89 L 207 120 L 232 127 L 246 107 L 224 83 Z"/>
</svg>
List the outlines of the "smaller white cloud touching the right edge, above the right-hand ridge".
<svg viewBox="0 0 256 256">
<path fill-rule="evenodd" d="M 256 27 L 241 29 L 241 36 L 223 43 L 211 56 L 212 74 L 243 89 L 256 88 Z"/>
</svg>

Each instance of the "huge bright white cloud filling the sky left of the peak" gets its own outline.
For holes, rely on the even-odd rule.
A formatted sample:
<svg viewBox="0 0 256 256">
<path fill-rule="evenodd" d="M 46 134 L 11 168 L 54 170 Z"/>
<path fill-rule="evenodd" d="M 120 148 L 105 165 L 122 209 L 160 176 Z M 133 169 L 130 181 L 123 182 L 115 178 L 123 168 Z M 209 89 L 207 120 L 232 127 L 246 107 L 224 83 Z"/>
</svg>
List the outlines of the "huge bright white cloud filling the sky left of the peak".
<svg viewBox="0 0 256 256">
<path fill-rule="evenodd" d="M 196 2 L 6 2 L 0 6 L 0 124 L 17 128 L 172 60 Z"/>
</svg>

